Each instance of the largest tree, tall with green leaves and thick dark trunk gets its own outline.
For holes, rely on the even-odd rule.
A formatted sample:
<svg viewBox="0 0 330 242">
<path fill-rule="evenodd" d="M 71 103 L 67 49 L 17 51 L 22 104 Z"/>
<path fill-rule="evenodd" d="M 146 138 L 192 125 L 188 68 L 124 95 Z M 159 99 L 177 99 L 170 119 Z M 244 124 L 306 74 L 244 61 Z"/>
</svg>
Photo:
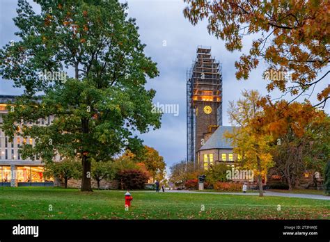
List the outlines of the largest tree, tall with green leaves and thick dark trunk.
<svg viewBox="0 0 330 242">
<path fill-rule="evenodd" d="M 108 161 L 127 148 L 139 150 L 142 141 L 132 132 L 160 127 L 161 114 L 152 112 L 155 90 L 145 88 L 147 78 L 158 75 L 156 63 L 143 54 L 127 4 L 37 3 L 40 14 L 18 1 L 20 40 L 0 50 L 3 79 L 24 87 L 2 129 L 10 138 L 36 139 L 34 147 L 22 147 L 23 157 L 50 162 L 58 152 L 81 159 L 81 191 L 92 191 L 91 159 Z M 49 125 L 29 124 L 49 117 Z"/>
</svg>

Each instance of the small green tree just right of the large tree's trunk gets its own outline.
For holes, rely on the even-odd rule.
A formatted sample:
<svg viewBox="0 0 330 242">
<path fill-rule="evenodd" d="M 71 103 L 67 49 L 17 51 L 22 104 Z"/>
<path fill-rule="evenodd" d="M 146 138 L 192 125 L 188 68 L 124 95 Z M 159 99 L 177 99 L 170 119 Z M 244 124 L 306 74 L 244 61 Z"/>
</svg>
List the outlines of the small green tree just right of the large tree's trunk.
<svg viewBox="0 0 330 242">
<path fill-rule="evenodd" d="M 100 190 L 100 182 L 104 179 L 113 179 L 116 176 L 116 169 L 111 161 L 95 161 L 92 159 L 92 178 L 97 182 L 97 189 Z"/>
</svg>

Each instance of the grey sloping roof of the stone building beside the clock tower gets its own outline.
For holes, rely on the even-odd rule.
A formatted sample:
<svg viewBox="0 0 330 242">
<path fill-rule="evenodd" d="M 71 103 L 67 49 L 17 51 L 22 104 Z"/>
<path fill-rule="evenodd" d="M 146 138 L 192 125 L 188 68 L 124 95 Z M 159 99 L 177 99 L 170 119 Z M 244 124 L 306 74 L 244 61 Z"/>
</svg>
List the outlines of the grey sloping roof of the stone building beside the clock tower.
<svg viewBox="0 0 330 242">
<path fill-rule="evenodd" d="M 219 126 L 199 150 L 233 149 L 230 140 L 223 137 L 226 131 L 233 131 L 232 126 Z"/>
</svg>

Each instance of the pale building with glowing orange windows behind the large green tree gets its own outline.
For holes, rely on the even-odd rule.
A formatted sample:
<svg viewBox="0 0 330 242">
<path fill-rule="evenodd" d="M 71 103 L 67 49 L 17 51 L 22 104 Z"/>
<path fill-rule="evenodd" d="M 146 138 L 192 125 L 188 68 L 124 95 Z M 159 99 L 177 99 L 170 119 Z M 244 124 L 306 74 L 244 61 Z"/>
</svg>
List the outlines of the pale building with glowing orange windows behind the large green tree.
<svg viewBox="0 0 330 242">
<path fill-rule="evenodd" d="M 1 129 L 3 116 L 8 113 L 8 102 L 15 102 L 15 96 L 0 95 L 0 186 L 53 186 L 53 179 L 45 179 L 43 172 L 45 163 L 40 159 L 22 159 L 20 149 L 29 144 L 34 145 L 31 137 L 15 136 L 12 141 Z M 40 119 L 29 125 L 49 125 L 52 118 Z M 60 161 L 56 154 L 54 161 Z"/>
</svg>

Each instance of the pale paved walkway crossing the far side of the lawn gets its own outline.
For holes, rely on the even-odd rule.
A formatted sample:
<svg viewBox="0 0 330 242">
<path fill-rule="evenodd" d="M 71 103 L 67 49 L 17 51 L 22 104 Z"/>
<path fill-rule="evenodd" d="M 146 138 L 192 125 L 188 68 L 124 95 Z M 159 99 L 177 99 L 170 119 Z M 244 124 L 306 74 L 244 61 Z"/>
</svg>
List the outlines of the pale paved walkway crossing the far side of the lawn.
<svg viewBox="0 0 330 242">
<path fill-rule="evenodd" d="M 198 192 L 198 191 L 188 191 L 188 190 L 166 190 L 166 193 L 207 193 L 207 194 L 228 194 L 228 195 L 251 195 L 256 196 L 259 193 L 217 193 L 217 192 Z M 277 193 L 273 191 L 265 191 L 265 196 L 273 196 L 273 197 L 300 197 L 300 198 L 309 198 L 309 199 L 320 199 L 320 200 L 330 200 L 330 196 L 324 195 L 315 195 L 315 194 L 298 194 L 298 193 Z"/>
</svg>

